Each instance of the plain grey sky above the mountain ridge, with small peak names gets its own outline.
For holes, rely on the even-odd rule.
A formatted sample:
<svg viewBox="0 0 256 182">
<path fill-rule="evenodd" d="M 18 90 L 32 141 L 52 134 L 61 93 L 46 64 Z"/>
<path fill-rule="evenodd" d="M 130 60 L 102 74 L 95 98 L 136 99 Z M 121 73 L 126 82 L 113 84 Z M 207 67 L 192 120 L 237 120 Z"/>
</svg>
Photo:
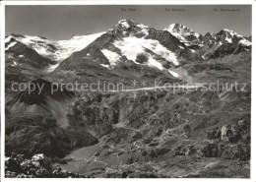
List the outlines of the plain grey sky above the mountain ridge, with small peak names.
<svg viewBox="0 0 256 182">
<path fill-rule="evenodd" d="M 136 8 L 136 12 L 121 12 L 121 8 Z M 185 12 L 168 12 L 166 8 L 185 9 Z M 214 11 L 221 8 L 239 11 Z M 131 19 L 158 30 L 179 23 L 203 34 L 229 29 L 247 36 L 251 35 L 251 13 L 250 5 L 7 6 L 6 34 L 69 39 L 73 34 L 108 30 L 121 19 Z"/>
</svg>

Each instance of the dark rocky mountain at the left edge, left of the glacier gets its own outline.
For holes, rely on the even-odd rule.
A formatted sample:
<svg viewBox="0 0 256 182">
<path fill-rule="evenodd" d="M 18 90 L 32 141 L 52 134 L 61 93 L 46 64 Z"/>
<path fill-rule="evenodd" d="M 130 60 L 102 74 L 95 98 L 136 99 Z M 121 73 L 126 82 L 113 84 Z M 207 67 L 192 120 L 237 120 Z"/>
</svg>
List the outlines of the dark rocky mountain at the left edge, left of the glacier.
<svg viewBox="0 0 256 182">
<path fill-rule="evenodd" d="M 14 37 L 5 41 L 5 75 L 9 82 L 29 82 L 40 78 L 46 70 L 56 65 L 56 61 L 43 57 L 28 45 Z"/>
</svg>

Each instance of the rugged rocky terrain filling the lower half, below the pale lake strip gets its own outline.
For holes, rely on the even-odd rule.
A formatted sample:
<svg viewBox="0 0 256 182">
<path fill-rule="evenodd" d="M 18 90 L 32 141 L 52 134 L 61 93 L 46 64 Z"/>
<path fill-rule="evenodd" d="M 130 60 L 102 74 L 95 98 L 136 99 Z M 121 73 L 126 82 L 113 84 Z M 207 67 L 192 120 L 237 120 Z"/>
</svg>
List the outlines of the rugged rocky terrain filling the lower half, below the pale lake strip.
<svg viewBox="0 0 256 182">
<path fill-rule="evenodd" d="M 250 92 L 223 94 L 83 95 L 72 104 L 66 129 L 41 117 L 8 115 L 5 175 L 248 178 Z M 89 156 L 66 158 L 95 145 Z"/>
</svg>

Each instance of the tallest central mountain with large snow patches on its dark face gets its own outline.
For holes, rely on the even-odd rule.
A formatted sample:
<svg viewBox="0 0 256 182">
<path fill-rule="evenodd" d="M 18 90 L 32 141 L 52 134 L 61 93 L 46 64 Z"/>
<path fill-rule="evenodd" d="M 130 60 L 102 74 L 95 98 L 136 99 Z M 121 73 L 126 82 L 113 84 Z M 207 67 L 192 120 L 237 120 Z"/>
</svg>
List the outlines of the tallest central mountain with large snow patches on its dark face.
<svg viewBox="0 0 256 182">
<path fill-rule="evenodd" d="M 100 66 L 99 71 L 101 73 L 103 68 L 104 74 L 118 72 L 118 75 L 126 73 L 138 77 L 151 72 L 167 78 L 182 78 L 186 73 L 177 67 L 200 61 L 204 61 L 200 55 L 170 32 L 121 20 L 83 50 L 62 61 L 54 74 L 75 71 L 81 75 L 85 72 L 82 68 L 99 69 Z"/>
</svg>

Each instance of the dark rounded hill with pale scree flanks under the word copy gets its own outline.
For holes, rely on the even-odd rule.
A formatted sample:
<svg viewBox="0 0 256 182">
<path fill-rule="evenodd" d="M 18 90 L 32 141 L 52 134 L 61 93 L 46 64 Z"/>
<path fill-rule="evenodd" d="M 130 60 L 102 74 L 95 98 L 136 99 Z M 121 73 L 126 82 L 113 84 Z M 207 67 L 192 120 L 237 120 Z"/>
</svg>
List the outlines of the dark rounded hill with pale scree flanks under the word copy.
<svg viewBox="0 0 256 182">
<path fill-rule="evenodd" d="M 19 91 L 10 100 L 7 99 L 8 112 L 50 115 L 57 119 L 61 127 L 69 126 L 66 115 L 75 100 L 75 93 L 42 79 L 29 84 L 34 86 L 34 90 Z"/>
</svg>

